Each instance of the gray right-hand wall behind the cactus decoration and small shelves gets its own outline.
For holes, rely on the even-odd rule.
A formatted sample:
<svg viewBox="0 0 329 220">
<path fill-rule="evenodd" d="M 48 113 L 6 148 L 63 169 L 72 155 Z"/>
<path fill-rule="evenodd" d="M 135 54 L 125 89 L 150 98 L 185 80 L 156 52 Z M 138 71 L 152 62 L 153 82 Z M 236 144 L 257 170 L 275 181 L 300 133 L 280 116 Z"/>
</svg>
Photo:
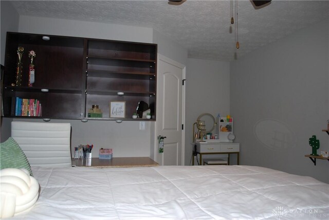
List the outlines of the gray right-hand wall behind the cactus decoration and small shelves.
<svg viewBox="0 0 329 220">
<path fill-rule="evenodd" d="M 328 20 L 302 29 L 230 64 L 230 109 L 241 164 L 329 182 L 328 161 L 317 166 L 308 138 L 328 151 Z"/>
</svg>

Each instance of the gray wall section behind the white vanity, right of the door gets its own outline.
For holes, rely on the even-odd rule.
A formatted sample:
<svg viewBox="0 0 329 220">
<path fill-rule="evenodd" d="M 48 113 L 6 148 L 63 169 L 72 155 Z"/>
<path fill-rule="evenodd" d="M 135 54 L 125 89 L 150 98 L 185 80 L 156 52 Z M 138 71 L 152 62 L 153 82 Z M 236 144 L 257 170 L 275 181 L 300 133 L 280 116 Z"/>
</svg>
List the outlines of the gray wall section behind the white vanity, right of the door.
<svg viewBox="0 0 329 220">
<path fill-rule="evenodd" d="M 202 113 L 230 114 L 230 63 L 188 59 L 186 75 L 185 164 L 192 156 L 192 126 Z M 232 116 L 234 117 L 234 115 Z M 191 163 L 192 164 L 192 163 Z"/>
</svg>

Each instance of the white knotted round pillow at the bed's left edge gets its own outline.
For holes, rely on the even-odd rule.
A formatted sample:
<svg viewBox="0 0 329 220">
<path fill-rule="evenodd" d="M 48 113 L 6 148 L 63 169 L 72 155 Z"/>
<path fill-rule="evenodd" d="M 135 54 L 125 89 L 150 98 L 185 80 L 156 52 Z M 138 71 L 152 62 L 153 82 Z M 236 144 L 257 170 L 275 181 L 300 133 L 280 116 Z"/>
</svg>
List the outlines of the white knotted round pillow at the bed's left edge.
<svg viewBox="0 0 329 220">
<path fill-rule="evenodd" d="M 0 171 L 0 218 L 26 211 L 39 197 L 39 183 L 26 169 L 6 168 Z"/>
</svg>

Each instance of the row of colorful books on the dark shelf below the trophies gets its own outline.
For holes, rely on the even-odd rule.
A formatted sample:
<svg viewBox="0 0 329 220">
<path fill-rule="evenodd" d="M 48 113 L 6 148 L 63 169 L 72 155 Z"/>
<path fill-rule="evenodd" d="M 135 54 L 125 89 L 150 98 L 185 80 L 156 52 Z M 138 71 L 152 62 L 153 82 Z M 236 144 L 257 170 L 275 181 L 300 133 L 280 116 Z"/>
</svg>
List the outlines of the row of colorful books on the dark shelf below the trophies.
<svg viewBox="0 0 329 220">
<path fill-rule="evenodd" d="M 42 106 L 38 99 L 22 99 L 20 97 L 16 97 L 14 103 L 14 116 L 42 116 Z"/>
</svg>

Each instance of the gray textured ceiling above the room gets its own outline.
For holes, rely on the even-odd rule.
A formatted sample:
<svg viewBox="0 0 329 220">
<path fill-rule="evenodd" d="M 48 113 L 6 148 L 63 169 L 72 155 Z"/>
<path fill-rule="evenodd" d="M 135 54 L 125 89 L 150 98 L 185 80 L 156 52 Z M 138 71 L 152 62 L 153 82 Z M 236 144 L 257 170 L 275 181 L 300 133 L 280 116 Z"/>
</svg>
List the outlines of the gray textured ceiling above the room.
<svg viewBox="0 0 329 220">
<path fill-rule="evenodd" d="M 294 31 L 328 19 L 328 1 L 278 1 L 255 9 L 238 1 L 240 49 L 231 1 L 169 5 L 155 1 L 12 1 L 21 15 L 153 28 L 188 49 L 189 58 L 231 61 Z M 236 1 L 233 1 L 235 8 Z M 235 9 L 233 9 L 235 13 Z"/>
</svg>

